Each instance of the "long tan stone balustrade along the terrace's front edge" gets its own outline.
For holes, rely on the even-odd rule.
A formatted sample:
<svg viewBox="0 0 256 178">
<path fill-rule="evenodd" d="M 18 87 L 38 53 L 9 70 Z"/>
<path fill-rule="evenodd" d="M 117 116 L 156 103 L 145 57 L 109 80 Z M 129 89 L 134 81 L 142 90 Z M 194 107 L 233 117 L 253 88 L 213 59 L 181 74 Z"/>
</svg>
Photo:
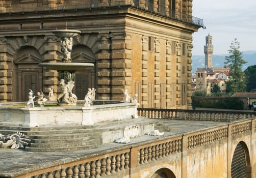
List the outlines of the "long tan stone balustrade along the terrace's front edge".
<svg viewBox="0 0 256 178">
<path fill-rule="evenodd" d="M 142 110 L 140 110 L 142 111 Z M 156 111 L 156 110 L 155 110 Z M 182 111 L 182 110 L 179 110 Z M 129 177 L 131 172 L 146 169 L 152 162 L 170 162 L 182 159 L 184 151 L 194 155 L 194 149 L 212 143 L 228 142 L 228 138 L 236 139 L 250 135 L 256 131 L 256 118 L 216 126 L 211 129 L 189 132 L 184 135 L 167 136 L 130 146 L 120 146 L 112 150 L 91 153 L 80 159 L 66 158 L 53 163 L 55 166 L 43 164 L 35 168 L 24 169 L 13 177 Z M 233 141 L 236 146 L 236 141 Z M 80 154 L 81 155 L 81 154 Z M 186 154 L 185 154 L 186 155 Z M 72 155 L 71 155 L 72 156 Z M 82 155 L 81 155 L 82 156 Z M 184 158 L 186 159 L 186 157 Z M 150 164 L 151 163 L 151 164 Z M 10 177 L 7 174 L 0 177 Z"/>
</svg>

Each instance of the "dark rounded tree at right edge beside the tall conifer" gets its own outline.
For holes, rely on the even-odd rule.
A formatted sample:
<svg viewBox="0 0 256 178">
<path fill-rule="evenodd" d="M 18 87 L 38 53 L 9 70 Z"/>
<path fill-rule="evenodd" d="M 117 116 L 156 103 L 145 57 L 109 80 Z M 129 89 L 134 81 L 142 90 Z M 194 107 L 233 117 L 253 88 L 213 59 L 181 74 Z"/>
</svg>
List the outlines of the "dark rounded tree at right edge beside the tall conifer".
<svg viewBox="0 0 256 178">
<path fill-rule="evenodd" d="M 245 71 L 245 79 L 246 79 L 246 90 L 256 91 L 256 65 L 249 66 Z"/>
</svg>

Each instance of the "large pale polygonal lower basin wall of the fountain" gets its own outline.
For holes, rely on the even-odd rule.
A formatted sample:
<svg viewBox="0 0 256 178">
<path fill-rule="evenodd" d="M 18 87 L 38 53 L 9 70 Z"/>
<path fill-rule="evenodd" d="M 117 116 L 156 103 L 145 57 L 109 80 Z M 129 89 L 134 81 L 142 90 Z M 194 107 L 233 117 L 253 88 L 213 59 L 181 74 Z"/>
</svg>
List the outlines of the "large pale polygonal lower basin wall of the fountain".
<svg viewBox="0 0 256 178">
<path fill-rule="evenodd" d="M 119 102 L 96 106 L 9 107 L 0 106 L 0 125 L 23 127 L 93 125 L 130 120 L 137 115 L 137 103 Z M 10 104 L 9 104 L 10 105 Z M 129 121 L 128 121 L 129 122 Z"/>
</svg>

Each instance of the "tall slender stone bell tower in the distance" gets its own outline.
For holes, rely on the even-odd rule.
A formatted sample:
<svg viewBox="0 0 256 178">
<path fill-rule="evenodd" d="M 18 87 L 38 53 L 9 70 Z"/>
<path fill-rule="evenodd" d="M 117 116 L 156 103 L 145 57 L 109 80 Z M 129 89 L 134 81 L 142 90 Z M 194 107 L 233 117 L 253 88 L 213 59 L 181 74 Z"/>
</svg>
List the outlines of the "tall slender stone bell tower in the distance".
<svg viewBox="0 0 256 178">
<path fill-rule="evenodd" d="M 206 68 L 213 68 L 213 37 L 208 34 L 206 36 L 206 45 L 204 46 L 204 54 L 206 55 Z"/>
</svg>

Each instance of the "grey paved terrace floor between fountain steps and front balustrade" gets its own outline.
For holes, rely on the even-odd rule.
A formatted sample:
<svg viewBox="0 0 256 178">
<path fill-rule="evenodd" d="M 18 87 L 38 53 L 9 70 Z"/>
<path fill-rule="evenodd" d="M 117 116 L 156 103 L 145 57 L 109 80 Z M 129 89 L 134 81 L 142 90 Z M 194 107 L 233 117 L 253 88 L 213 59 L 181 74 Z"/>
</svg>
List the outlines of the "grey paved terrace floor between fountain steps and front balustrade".
<svg viewBox="0 0 256 178">
<path fill-rule="evenodd" d="M 144 120 L 147 118 L 139 118 L 139 120 L 140 119 Z M 125 149 L 125 147 L 130 148 L 133 145 L 136 146 L 142 142 L 151 142 L 154 139 L 161 140 L 164 138 L 171 138 L 194 131 L 206 130 L 227 124 L 226 122 L 150 119 L 150 121 L 152 120 L 163 122 L 165 125 L 170 127 L 171 131 L 165 132 L 163 137 L 143 135 L 137 138 L 132 138 L 130 143 L 108 143 L 98 147 L 97 149 L 75 152 L 42 153 L 0 149 L 0 177 L 10 177 L 25 174 L 26 172 L 37 170 L 39 168 L 42 169 L 49 166 L 56 166 L 63 163 L 78 161 L 81 159 L 86 159 L 92 155 L 97 156 L 98 153 L 107 154 L 113 150 L 117 151 L 119 149 Z M 136 120 L 132 120 L 131 124 L 136 124 Z M 161 132 L 161 130 L 159 131 Z"/>
</svg>

